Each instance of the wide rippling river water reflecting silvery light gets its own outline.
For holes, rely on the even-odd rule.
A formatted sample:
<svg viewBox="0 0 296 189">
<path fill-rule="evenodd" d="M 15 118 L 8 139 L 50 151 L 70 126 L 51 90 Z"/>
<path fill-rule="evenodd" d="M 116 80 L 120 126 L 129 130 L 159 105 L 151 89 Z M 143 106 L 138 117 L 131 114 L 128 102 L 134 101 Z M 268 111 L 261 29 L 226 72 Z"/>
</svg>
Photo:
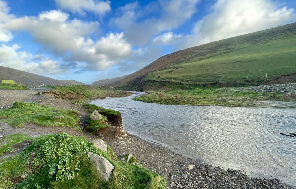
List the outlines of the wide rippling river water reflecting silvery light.
<svg viewBox="0 0 296 189">
<path fill-rule="evenodd" d="M 296 185 L 296 137 L 280 134 L 296 133 L 295 109 L 162 105 L 132 92 L 90 103 L 120 111 L 127 132 L 198 162 Z"/>
</svg>

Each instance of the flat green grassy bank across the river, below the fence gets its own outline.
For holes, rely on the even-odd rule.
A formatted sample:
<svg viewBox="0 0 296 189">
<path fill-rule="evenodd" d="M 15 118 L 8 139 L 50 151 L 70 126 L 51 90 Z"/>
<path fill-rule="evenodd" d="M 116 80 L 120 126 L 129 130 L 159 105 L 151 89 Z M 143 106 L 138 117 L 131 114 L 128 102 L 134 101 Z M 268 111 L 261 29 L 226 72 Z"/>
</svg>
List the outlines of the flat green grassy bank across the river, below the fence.
<svg viewBox="0 0 296 189">
<path fill-rule="evenodd" d="M 134 100 L 158 104 L 252 106 L 253 99 L 274 99 L 280 96 L 281 93 L 276 93 L 274 96 L 271 93 L 236 92 L 192 85 L 190 90 L 150 91 L 148 95 L 135 97 Z"/>
</svg>

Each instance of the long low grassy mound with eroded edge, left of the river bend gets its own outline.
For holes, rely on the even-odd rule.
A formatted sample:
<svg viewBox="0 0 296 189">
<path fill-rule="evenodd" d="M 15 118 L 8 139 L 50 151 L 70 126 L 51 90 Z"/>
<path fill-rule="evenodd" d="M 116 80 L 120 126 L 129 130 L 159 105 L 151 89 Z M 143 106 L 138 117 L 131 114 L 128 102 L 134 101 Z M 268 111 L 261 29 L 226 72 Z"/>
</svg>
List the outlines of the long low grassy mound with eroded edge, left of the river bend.
<svg viewBox="0 0 296 189">
<path fill-rule="evenodd" d="M 71 85 L 52 88 L 49 94 L 69 100 L 81 101 L 84 98 L 123 97 L 130 95 L 126 91 L 113 90 L 107 87 L 91 85 Z"/>
</svg>

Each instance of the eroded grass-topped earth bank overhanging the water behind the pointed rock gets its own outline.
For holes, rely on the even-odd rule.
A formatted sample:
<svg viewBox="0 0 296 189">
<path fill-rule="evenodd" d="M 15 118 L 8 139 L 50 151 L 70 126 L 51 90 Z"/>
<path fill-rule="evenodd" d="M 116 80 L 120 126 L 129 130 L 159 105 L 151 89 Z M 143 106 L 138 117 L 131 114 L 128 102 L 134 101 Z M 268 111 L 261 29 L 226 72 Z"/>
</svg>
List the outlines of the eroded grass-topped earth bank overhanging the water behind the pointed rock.
<svg viewBox="0 0 296 189">
<path fill-rule="evenodd" d="M 111 126 L 121 126 L 122 125 L 122 117 L 119 111 L 105 109 L 100 106 L 96 106 L 94 104 L 83 104 L 83 107 L 92 113 L 93 111 L 98 111 L 99 114 L 107 117 L 109 124 Z"/>
</svg>

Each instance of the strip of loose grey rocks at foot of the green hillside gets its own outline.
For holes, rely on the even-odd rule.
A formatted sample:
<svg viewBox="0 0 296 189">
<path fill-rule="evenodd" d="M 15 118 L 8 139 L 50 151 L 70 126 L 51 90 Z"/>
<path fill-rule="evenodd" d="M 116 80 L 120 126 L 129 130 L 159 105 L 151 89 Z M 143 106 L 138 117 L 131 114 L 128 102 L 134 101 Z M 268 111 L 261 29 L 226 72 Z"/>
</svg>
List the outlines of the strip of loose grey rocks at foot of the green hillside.
<svg viewBox="0 0 296 189">
<path fill-rule="evenodd" d="M 274 85 L 260 85 L 250 87 L 225 88 L 231 91 L 255 91 L 261 93 L 296 94 L 296 83 L 284 83 Z"/>
</svg>

